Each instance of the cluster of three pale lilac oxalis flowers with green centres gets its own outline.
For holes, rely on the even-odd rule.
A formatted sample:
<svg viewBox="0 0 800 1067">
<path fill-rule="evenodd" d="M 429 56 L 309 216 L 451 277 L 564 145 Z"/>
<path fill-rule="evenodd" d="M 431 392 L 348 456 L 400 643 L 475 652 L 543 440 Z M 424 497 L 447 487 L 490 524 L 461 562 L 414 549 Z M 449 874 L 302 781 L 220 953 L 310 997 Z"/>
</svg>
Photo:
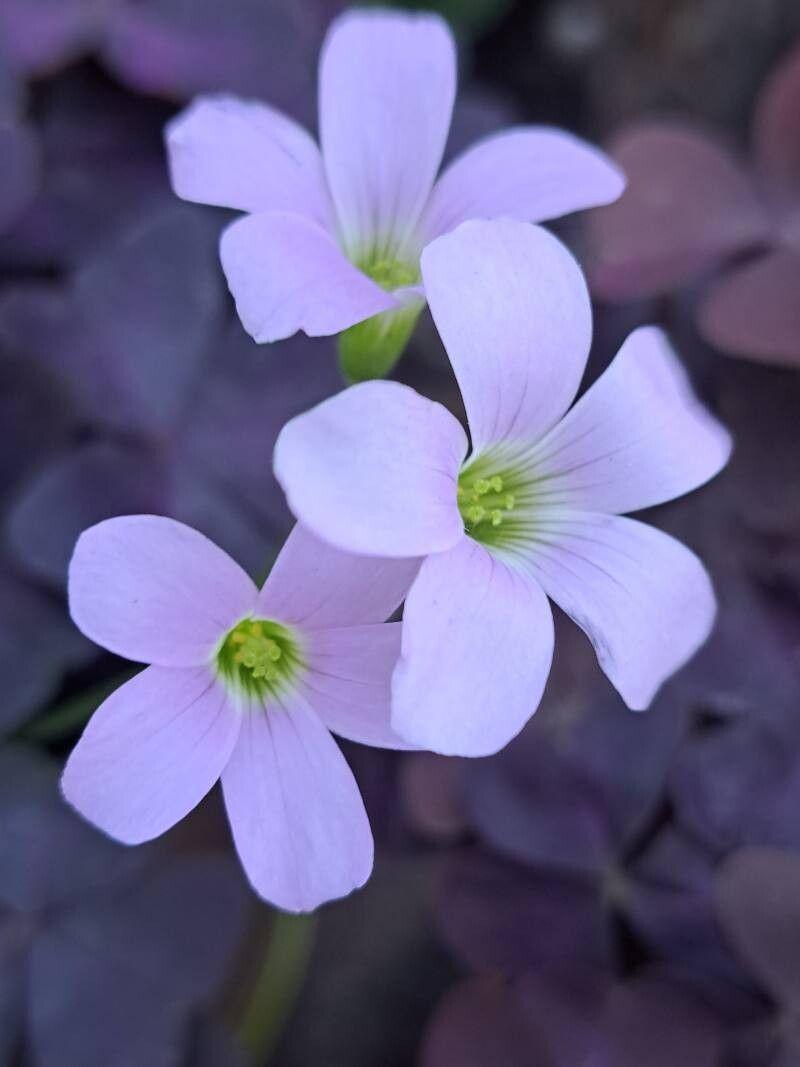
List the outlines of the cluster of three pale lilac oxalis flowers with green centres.
<svg viewBox="0 0 800 1067">
<path fill-rule="evenodd" d="M 498 751 L 542 698 L 550 600 L 642 710 L 715 617 L 700 560 L 624 517 L 703 484 L 730 452 L 665 335 L 636 331 L 573 403 L 589 294 L 537 223 L 614 200 L 623 178 L 575 138 L 522 127 L 435 181 L 454 66 L 436 17 L 347 14 L 322 49 L 321 150 L 231 97 L 195 101 L 167 148 L 180 196 L 245 212 L 221 255 L 257 341 L 338 334 L 346 378 L 371 379 L 427 303 L 468 436 L 411 387 L 358 381 L 277 439 L 298 524 L 260 588 L 205 536 L 151 514 L 92 526 L 69 563 L 82 633 L 149 666 L 96 712 L 66 798 L 137 844 L 221 780 L 250 881 L 287 910 L 350 892 L 372 866 L 331 733 Z"/>
</svg>

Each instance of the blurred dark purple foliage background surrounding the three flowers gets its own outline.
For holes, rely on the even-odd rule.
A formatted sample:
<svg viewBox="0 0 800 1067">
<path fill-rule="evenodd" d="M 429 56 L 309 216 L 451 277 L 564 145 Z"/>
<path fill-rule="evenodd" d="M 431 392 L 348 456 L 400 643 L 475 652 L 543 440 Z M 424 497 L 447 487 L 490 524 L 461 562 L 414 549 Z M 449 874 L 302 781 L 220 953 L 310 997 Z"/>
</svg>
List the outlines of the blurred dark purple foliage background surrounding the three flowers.
<svg viewBox="0 0 800 1067">
<path fill-rule="evenodd" d="M 556 124 L 621 159 L 563 220 L 596 298 L 589 380 L 670 332 L 736 452 L 647 519 L 707 562 L 717 630 L 644 714 L 557 620 L 530 726 L 471 762 L 345 746 L 378 843 L 314 917 L 244 886 L 215 793 L 126 849 L 60 801 L 129 675 L 65 607 L 78 532 L 157 512 L 265 573 L 275 435 L 340 387 L 326 340 L 256 347 L 222 211 L 171 194 L 198 92 L 314 127 L 338 0 L 0 4 L 0 1063 L 7 1067 L 800 1065 L 800 9 L 438 0 L 450 154 Z M 430 319 L 398 377 L 457 413 Z"/>
</svg>

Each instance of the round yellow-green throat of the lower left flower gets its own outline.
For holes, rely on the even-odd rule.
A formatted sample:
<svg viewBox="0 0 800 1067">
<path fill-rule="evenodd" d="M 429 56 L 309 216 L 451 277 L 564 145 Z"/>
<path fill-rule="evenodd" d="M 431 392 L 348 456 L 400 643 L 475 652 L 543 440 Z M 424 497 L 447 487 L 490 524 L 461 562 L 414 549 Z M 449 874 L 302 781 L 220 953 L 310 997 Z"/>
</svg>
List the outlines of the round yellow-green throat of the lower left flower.
<svg viewBox="0 0 800 1067">
<path fill-rule="evenodd" d="M 271 619 L 244 619 L 229 631 L 217 653 L 223 681 L 259 701 L 286 692 L 302 667 L 295 635 Z"/>
</svg>

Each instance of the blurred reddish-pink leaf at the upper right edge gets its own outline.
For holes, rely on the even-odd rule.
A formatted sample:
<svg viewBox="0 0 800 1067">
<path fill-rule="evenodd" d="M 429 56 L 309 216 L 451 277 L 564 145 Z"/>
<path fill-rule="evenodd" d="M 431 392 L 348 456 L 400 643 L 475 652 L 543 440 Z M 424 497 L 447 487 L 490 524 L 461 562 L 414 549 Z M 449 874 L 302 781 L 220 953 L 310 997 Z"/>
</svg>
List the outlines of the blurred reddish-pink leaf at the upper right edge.
<svg viewBox="0 0 800 1067">
<path fill-rule="evenodd" d="M 722 351 L 800 365 L 800 48 L 756 103 L 753 158 L 743 165 L 702 128 L 641 121 L 610 152 L 628 177 L 619 203 L 590 217 L 592 290 L 608 300 L 667 292 L 747 255 L 719 276 L 698 310 Z"/>
</svg>

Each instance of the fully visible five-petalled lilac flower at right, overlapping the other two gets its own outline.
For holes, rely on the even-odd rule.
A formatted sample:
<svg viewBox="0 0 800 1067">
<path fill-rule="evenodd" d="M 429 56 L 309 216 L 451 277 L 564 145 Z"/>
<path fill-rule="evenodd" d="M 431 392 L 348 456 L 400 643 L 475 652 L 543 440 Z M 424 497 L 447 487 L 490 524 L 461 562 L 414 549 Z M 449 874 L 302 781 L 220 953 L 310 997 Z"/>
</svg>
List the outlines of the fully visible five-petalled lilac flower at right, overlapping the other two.
<svg viewBox="0 0 800 1067">
<path fill-rule="evenodd" d="M 545 230 L 468 222 L 422 253 L 431 312 L 471 436 L 390 382 L 346 389 L 289 423 L 275 472 L 289 506 L 351 552 L 426 556 L 405 602 L 393 726 L 438 752 L 481 755 L 535 710 L 553 654 L 549 595 L 581 626 L 630 707 L 707 636 L 695 556 L 622 512 L 694 489 L 725 463 L 655 329 L 636 331 L 567 412 L 591 308 Z"/>
</svg>

